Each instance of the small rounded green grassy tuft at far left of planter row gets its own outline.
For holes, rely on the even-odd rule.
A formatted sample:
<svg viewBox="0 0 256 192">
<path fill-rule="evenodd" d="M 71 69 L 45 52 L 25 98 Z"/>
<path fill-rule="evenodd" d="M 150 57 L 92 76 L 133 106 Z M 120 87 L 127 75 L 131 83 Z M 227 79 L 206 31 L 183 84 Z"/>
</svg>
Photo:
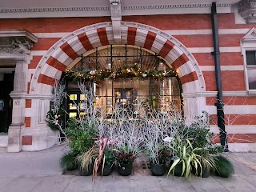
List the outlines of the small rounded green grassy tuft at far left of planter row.
<svg viewBox="0 0 256 192">
<path fill-rule="evenodd" d="M 60 166 L 64 170 L 75 170 L 78 168 L 78 163 L 76 161 L 76 156 L 74 154 L 63 154 L 59 161 Z"/>
</svg>

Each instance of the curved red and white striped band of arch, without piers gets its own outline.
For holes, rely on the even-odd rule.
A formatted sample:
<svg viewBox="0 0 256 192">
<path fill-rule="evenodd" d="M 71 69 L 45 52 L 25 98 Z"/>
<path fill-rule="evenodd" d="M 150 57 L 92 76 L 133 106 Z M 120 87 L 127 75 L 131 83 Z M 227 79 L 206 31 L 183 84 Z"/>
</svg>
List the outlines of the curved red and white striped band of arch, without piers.
<svg viewBox="0 0 256 192">
<path fill-rule="evenodd" d="M 165 58 L 182 82 L 183 93 L 205 91 L 205 82 L 198 62 L 176 38 L 152 26 L 134 22 L 122 22 L 122 44 L 141 46 Z M 54 44 L 38 63 L 30 84 L 30 94 L 51 94 L 54 80 L 78 55 L 96 47 L 114 43 L 111 22 L 86 26 L 67 35 Z"/>
</svg>

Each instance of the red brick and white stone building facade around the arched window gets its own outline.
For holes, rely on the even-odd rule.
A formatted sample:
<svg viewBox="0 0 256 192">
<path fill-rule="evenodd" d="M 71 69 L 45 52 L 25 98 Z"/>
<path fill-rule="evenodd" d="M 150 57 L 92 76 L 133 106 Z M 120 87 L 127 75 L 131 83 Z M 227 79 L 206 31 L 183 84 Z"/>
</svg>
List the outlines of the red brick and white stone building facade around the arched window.
<svg viewBox="0 0 256 192">
<path fill-rule="evenodd" d="M 229 150 L 256 151 L 253 0 L 11 2 L 0 9 L 0 147 L 58 142 L 46 123 L 54 82 L 81 55 L 114 46 L 157 55 L 178 72 L 186 118 L 206 110 Z"/>
</svg>

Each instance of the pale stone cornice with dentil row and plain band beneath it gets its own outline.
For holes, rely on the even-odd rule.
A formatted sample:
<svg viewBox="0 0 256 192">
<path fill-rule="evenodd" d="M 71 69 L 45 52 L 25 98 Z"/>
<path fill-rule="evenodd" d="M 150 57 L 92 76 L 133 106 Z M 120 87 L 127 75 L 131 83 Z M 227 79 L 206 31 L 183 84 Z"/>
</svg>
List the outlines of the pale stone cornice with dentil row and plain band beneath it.
<svg viewBox="0 0 256 192">
<path fill-rule="evenodd" d="M 122 15 L 156 15 L 156 14 L 210 14 L 211 3 L 174 3 L 152 5 L 126 4 L 122 6 Z M 231 13 L 232 3 L 218 3 L 218 13 Z M 65 17 L 100 17 L 111 16 L 110 7 L 74 6 L 74 7 L 24 7 L 0 9 L 0 18 L 65 18 Z"/>
</svg>

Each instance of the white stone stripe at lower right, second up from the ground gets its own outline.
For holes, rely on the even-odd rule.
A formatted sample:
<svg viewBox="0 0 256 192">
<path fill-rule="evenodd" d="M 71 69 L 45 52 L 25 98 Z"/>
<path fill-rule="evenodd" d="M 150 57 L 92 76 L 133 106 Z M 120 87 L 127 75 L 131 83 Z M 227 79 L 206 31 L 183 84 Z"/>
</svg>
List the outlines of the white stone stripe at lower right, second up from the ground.
<svg viewBox="0 0 256 192">
<path fill-rule="evenodd" d="M 228 134 L 256 134 L 256 126 L 250 125 L 226 125 L 226 132 Z M 210 126 L 210 131 L 214 134 L 219 134 L 218 126 Z"/>
</svg>

